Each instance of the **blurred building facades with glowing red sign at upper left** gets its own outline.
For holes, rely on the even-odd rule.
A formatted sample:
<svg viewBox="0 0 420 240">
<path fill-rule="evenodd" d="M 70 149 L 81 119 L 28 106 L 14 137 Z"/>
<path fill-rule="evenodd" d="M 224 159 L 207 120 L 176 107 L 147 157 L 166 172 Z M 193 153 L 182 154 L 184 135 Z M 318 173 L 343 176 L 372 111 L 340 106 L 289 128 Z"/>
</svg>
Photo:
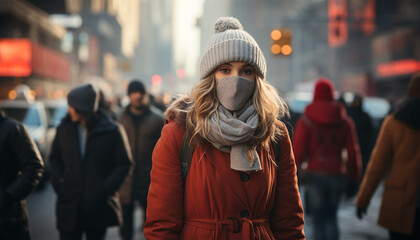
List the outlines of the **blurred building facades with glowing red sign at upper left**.
<svg viewBox="0 0 420 240">
<path fill-rule="evenodd" d="M 139 10 L 137 0 L 0 0 L 0 99 L 18 84 L 38 99 L 86 81 L 124 91 Z"/>
</svg>

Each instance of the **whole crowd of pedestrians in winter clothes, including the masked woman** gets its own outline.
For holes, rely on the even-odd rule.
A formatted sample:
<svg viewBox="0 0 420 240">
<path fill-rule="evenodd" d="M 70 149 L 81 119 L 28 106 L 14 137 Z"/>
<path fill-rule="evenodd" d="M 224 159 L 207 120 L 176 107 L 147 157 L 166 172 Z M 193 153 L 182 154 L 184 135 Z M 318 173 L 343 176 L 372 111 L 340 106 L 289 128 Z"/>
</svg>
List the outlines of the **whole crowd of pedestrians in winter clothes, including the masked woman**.
<svg viewBox="0 0 420 240">
<path fill-rule="evenodd" d="M 383 179 L 378 224 L 391 239 L 420 239 L 420 75 L 377 139 L 363 97 L 347 106 L 327 78 L 290 126 L 255 39 L 232 17 L 214 30 L 199 81 L 169 106 L 137 79 L 118 112 L 93 83 L 68 93 L 44 159 L 60 239 L 105 239 L 111 226 L 133 239 L 140 207 L 147 239 L 305 239 L 305 213 L 315 240 L 334 240 L 343 196 L 356 196 L 362 219 Z M 3 112 L 0 156 L 0 239 L 30 239 L 25 198 L 44 160 Z"/>
</svg>

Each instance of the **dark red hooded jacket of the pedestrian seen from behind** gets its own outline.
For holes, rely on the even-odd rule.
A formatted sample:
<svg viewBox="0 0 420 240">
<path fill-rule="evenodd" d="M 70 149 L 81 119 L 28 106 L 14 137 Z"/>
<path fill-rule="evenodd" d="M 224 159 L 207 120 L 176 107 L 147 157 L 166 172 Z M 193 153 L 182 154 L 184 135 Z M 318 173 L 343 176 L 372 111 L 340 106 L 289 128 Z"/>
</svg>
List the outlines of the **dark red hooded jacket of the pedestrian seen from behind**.
<svg viewBox="0 0 420 240">
<path fill-rule="evenodd" d="M 341 103 L 309 104 L 295 129 L 293 148 L 298 168 L 307 161 L 308 172 L 348 174 L 350 180 L 359 180 L 362 165 L 356 130 Z"/>
</svg>

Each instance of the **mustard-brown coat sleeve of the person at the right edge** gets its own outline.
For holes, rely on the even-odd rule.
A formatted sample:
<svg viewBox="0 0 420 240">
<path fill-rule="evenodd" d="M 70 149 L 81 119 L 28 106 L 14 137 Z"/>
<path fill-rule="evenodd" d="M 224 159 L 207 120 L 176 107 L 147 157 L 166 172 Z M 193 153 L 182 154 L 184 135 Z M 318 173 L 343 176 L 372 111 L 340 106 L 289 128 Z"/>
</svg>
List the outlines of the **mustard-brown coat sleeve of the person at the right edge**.
<svg viewBox="0 0 420 240">
<path fill-rule="evenodd" d="M 382 178 L 387 174 L 392 158 L 391 117 L 387 117 L 379 132 L 378 140 L 369 160 L 366 173 L 356 198 L 356 206 L 367 208 Z"/>
</svg>

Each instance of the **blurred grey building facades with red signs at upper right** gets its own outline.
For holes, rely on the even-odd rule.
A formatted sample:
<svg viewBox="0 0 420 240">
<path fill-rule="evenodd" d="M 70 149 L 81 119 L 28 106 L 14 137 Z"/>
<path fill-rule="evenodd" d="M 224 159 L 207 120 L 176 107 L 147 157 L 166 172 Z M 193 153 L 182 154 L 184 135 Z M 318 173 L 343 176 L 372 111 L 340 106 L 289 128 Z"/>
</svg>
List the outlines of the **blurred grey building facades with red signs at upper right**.
<svg viewBox="0 0 420 240">
<path fill-rule="evenodd" d="M 201 51 L 220 16 L 238 18 L 267 59 L 267 80 L 280 92 L 311 90 L 331 78 L 340 91 L 405 95 L 420 71 L 420 2 L 416 0 L 206 1 Z M 273 54 L 270 33 L 292 32 L 290 55 Z"/>
</svg>

